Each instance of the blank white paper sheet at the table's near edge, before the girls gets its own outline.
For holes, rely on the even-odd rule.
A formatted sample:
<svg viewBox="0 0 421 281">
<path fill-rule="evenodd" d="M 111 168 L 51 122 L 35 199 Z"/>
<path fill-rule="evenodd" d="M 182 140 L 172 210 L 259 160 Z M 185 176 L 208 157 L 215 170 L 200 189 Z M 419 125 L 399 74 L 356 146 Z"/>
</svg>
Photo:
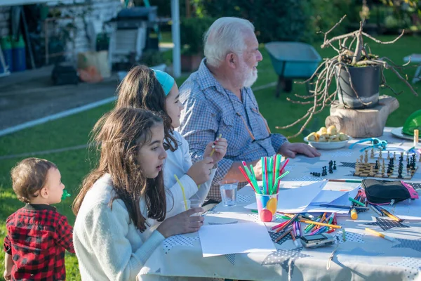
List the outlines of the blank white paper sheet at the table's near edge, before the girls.
<svg viewBox="0 0 421 281">
<path fill-rule="evenodd" d="M 276 251 L 263 223 L 202 226 L 199 237 L 203 257 Z"/>
</svg>

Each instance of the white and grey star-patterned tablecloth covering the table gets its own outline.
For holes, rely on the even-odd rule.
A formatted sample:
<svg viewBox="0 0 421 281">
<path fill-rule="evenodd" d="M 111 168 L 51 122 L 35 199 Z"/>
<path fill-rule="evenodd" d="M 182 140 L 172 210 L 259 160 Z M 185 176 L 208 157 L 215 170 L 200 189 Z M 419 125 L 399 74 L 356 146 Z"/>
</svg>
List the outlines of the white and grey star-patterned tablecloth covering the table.
<svg viewBox="0 0 421 281">
<path fill-rule="evenodd" d="M 388 149 L 408 150 L 413 143 L 394 138 L 386 128 L 380 139 L 389 141 Z M 355 141 L 351 141 L 355 142 Z M 321 180 L 310 172 L 321 172 L 330 160 L 336 161 L 337 169 L 323 178 L 356 178 L 352 176 L 359 150 L 367 144 L 357 144 L 352 150 L 323 150 L 316 159 L 297 157 L 290 159 L 290 174 L 284 178 L 285 187 L 307 185 Z M 383 152 L 385 155 L 385 152 Z M 386 152 L 387 154 L 387 152 Z M 383 156 L 385 157 L 385 156 Z M 419 156 L 418 156 L 419 157 Z M 418 162 L 417 164 L 421 164 Z M 420 165 L 421 166 L 421 165 Z M 421 171 L 418 169 L 412 179 L 415 188 L 421 188 Z M 356 183 L 328 183 L 327 188 L 342 189 L 357 186 Z M 236 207 L 218 204 L 205 215 L 206 224 L 244 223 L 258 221 L 258 215 L 243 207 L 255 202 L 253 190 L 246 186 L 239 190 Z M 267 223 L 268 231 L 276 223 Z M 346 240 L 342 240 L 342 230 L 332 233 L 336 244 L 317 249 L 296 249 L 287 235 L 276 242 L 272 254 L 229 254 L 202 257 L 199 235 L 176 235 L 164 240 L 161 247 L 147 261 L 138 275 L 138 280 L 203 280 L 229 278 L 234 280 L 421 280 L 421 221 L 398 223 L 389 218 L 379 217 L 372 210 L 359 213 L 352 221 L 349 217 L 338 218 L 338 224 L 346 230 Z M 366 233 L 366 227 L 385 233 L 396 239 L 389 242 L 381 237 Z M 269 231 L 272 240 L 278 233 Z M 223 241 L 221 241 L 223 243 Z M 327 269 L 331 253 L 333 259 Z M 179 276 L 179 277 L 175 277 Z"/>
</svg>

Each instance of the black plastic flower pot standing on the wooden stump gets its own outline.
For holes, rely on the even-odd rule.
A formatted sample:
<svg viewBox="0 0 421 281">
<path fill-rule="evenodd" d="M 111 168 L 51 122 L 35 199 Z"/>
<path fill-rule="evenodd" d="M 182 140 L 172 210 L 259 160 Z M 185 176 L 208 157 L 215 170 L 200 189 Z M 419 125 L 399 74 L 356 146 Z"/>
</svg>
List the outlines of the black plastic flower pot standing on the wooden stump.
<svg viewBox="0 0 421 281">
<path fill-rule="evenodd" d="M 380 66 L 348 67 L 352 85 L 359 98 L 352 89 L 349 74 L 344 67 L 336 69 L 335 77 L 338 81 L 338 100 L 347 108 L 369 108 L 377 105 L 380 89 Z"/>
</svg>

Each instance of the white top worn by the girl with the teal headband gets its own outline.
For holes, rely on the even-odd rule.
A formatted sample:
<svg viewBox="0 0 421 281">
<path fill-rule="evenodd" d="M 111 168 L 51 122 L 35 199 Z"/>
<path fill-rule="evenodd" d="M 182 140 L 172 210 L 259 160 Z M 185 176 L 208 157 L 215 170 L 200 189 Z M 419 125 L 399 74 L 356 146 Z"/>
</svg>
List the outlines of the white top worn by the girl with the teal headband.
<svg viewBox="0 0 421 281">
<path fill-rule="evenodd" d="M 178 131 L 174 131 L 173 136 L 175 140 L 178 141 L 178 150 L 175 150 L 174 152 L 167 150 L 168 156 L 163 166 L 163 182 L 167 188 L 167 218 L 175 216 L 182 211 L 182 208 L 180 208 L 183 200 L 182 190 L 177 181 L 175 181 L 174 174 L 178 176 L 181 184 L 184 186 L 186 198 L 199 199 L 203 202 L 205 201 L 206 196 L 208 196 L 210 185 L 212 185 L 212 180 L 216 171 L 216 169 L 211 169 L 209 181 L 201 184 L 198 189 L 193 179 L 190 178 L 190 176 L 187 176 L 187 171 L 189 171 L 192 166 L 192 158 L 189 155 L 189 143 L 187 143 L 185 138 L 183 138 Z"/>
</svg>

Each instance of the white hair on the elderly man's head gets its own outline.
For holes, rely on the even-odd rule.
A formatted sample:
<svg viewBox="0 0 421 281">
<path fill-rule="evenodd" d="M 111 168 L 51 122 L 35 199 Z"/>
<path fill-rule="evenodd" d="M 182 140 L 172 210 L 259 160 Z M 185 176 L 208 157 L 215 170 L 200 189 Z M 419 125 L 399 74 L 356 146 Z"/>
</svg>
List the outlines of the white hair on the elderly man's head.
<svg viewBox="0 0 421 281">
<path fill-rule="evenodd" d="M 228 53 L 240 55 L 246 50 L 245 37 L 254 34 L 254 26 L 242 18 L 218 18 L 204 34 L 203 45 L 206 63 L 218 67 Z"/>
</svg>

